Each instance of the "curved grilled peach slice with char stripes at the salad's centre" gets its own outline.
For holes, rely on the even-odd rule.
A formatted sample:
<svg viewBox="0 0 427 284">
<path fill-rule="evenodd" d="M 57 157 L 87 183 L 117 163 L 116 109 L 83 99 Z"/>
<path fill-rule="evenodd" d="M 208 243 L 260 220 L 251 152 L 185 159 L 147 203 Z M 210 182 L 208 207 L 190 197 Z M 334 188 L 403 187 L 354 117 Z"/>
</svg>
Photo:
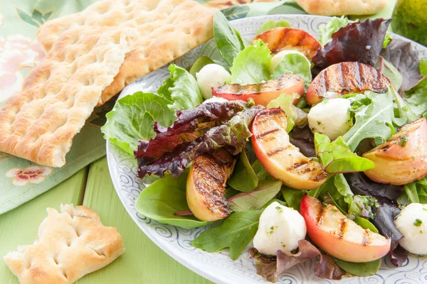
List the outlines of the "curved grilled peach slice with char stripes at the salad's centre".
<svg viewBox="0 0 427 284">
<path fill-rule="evenodd" d="M 320 163 L 305 157 L 286 133 L 282 109 L 263 109 L 253 119 L 252 146 L 270 175 L 297 190 L 312 190 L 325 182 L 327 173 Z"/>
</svg>

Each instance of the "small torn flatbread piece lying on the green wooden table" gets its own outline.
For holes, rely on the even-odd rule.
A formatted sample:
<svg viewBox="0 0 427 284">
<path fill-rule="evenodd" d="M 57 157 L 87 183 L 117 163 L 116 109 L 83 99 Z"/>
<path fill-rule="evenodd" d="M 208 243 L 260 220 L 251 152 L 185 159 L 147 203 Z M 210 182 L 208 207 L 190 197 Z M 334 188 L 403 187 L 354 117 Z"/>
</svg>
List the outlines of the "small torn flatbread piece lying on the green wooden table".
<svg viewBox="0 0 427 284">
<path fill-rule="evenodd" d="M 61 204 L 60 213 L 53 208 L 47 212 L 38 227 L 38 240 L 4 256 L 21 284 L 74 283 L 125 251 L 117 229 L 102 225 L 88 207 Z"/>
</svg>

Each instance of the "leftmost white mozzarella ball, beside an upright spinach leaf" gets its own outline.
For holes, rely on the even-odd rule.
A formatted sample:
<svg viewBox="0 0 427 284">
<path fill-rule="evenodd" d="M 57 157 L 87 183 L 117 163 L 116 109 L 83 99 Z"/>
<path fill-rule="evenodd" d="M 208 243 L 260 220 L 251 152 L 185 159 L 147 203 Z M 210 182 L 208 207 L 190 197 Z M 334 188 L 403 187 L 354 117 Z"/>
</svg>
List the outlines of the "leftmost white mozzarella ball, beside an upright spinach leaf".
<svg viewBox="0 0 427 284">
<path fill-rule="evenodd" d="M 226 84 L 231 79 L 226 68 L 218 64 L 209 64 L 196 73 L 197 84 L 204 99 L 212 97 L 212 87 L 216 88 Z"/>
</svg>

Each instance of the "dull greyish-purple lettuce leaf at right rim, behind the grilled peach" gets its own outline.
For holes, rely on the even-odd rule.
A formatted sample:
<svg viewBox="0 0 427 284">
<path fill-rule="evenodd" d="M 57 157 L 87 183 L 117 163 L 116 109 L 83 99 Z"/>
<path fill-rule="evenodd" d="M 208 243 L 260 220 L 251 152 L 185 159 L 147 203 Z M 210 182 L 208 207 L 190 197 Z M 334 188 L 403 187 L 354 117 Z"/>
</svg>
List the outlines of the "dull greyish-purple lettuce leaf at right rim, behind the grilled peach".
<svg viewBox="0 0 427 284">
<path fill-rule="evenodd" d="M 381 57 L 401 73 L 403 80 L 399 92 L 415 87 L 423 78 L 419 68 L 418 53 L 413 50 L 411 42 L 399 39 L 391 40 L 389 45 L 381 50 Z"/>
</svg>

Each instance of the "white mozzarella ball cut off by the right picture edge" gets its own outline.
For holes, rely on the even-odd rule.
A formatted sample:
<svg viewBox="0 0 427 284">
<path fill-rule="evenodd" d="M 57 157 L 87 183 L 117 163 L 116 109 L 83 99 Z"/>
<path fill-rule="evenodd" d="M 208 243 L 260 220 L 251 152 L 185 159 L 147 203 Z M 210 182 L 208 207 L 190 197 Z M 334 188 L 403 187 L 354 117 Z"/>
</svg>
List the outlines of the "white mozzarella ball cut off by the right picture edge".
<svg viewBox="0 0 427 284">
<path fill-rule="evenodd" d="M 399 244 L 414 254 L 427 254 L 427 204 L 411 203 L 394 220 L 404 235 Z"/>
</svg>

